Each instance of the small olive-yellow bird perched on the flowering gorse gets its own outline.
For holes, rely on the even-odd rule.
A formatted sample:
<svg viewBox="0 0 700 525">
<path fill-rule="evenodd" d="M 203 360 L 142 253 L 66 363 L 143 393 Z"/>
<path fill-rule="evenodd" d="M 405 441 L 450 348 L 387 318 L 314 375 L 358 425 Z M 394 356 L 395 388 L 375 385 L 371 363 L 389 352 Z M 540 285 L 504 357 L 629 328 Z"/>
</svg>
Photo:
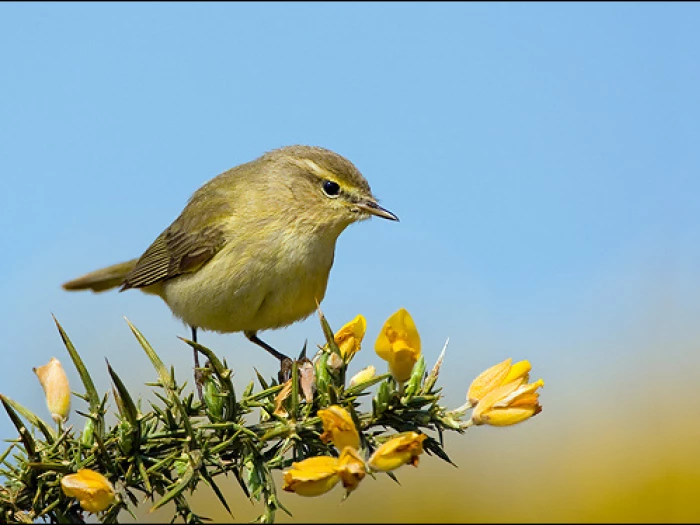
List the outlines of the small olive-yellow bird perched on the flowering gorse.
<svg viewBox="0 0 700 525">
<path fill-rule="evenodd" d="M 283 360 L 257 332 L 314 312 L 338 236 L 372 215 L 398 220 L 350 161 L 319 147 L 284 147 L 204 184 L 140 258 L 63 288 L 139 288 L 160 296 L 194 339 L 198 328 L 243 332 Z"/>
</svg>

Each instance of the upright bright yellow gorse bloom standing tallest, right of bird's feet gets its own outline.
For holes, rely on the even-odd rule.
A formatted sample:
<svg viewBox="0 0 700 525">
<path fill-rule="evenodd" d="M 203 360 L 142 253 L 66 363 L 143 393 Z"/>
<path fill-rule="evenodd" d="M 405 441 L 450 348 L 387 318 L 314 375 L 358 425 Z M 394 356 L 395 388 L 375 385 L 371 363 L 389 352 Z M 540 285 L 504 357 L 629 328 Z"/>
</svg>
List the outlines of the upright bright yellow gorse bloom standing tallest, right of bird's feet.
<svg viewBox="0 0 700 525">
<path fill-rule="evenodd" d="M 374 345 L 377 355 L 389 363 L 389 371 L 398 382 L 411 377 L 420 357 L 420 336 L 406 309 L 397 310 L 382 327 Z"/>
</svg>

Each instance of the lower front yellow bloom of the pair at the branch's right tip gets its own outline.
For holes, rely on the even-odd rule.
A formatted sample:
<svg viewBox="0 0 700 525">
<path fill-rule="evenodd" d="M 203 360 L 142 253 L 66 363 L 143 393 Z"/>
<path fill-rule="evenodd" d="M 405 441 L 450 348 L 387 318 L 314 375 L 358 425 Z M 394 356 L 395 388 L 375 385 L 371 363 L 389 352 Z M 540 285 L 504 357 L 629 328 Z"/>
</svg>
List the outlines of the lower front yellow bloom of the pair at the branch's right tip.
<svg viewBox="0 0 700 525">
<path fill-rule="evenodd" d="M 539 404 L 539 394 L 535 390 L 543 386 L 544 381 L 538 379 L 531 384 L 511 381 L 495 388 L 481 398 L 474 408 L 472 423 L 503 427 L 515 425 L 539 414 L 542 407 Z"/>
</svg>

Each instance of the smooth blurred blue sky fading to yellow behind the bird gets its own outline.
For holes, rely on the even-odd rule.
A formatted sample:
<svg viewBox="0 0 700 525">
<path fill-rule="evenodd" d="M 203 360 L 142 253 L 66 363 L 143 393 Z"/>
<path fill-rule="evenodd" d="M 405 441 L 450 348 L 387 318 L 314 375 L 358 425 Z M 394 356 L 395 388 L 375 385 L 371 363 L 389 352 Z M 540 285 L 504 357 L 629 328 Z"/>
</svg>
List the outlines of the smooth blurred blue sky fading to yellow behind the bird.
<svg viewBox="0 0 700 525">
<path fill-rule="evenodd" d="M 449 435 L 458 468 L 425 455 L 342 504 L 285 493 L 280 521 L 700 521 L 699 22 L 695 3 L 0 4 L 0 392 L 48 418 L 32 367 L 52 356 L 79 385 L 52 313 L 101 391 L 105 358 L 142 394 L 155 378 L 124 316 L 189 381 L 160 299 L 61 283 L 140 255 L 222 171 L 320 145 L 401 218 L 338 242 L 322 308 L 367 318 L 351 372 L 383 370 L 405 307 L 429 365 L 450 339 L 446 405 L 513 357 L 544 410 Z M 323 340 L 315 317 L 262 336 Z M 200 341 L 241 388 L 276 373 L 241 334 Z M 236 521 L 262 511 L 224 486 Z"/>
</svg>

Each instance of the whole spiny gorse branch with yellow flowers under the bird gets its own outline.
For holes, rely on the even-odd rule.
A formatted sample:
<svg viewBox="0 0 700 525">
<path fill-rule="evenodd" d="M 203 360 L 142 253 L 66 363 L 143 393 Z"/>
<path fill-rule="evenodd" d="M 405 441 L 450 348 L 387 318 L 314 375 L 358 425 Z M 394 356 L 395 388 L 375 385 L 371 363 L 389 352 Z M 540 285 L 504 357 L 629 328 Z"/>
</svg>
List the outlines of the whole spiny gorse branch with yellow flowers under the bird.
<svg viewBox="0 0 700 525">
<path fill-rule="evenodd" d="M 230 474 L 247 497 L 262 504 L 258 520 L 271 522 L 278 509 L 286 511 L 274 470 L 283 471 L 284 491 L 320 496 L 342 484 L 347 497 L 367 483 L 368 475 L 396 479 L 395 469 L 417 466 L 424 452 L 450 462 L 445 431 L 513 425 L 541 410 L 537 390 L 542 380 L 529 383 L 530 364 L 511 359 L 480 374 L 464 405 L 444 407 L 437 381 L 447 344 L 427 370 L 418 330 L 404 309 L 386 321 L 376 340 L 388 373 L 377 375 L 367 367 L 347 379 L 365 319 L 357 316 L 336 333 L 322 314 L 320 319 L 326 344 L 312 359 L 304 350 L 298 360 L 284 363 L 277 379 L 258 374 L 257 389 L 251 382 L 238 393 L 225 360 L 183 339 L 208 360 L 201 400 L 177 384 L 174 370 L 129 323 L 155 368 L 151 386 L 157 401 L 144 408 L 108 364 L 116 406 L 111 426 L 105 421 L 110 394 L 98 394 L 56 321 L 85 389 L 75 394 L 87 403 L 76 411 L 84 423 L 82 428 L 65 423 L 71 391 L 55 358 L 35 369 L 53 424 L 0 395 L 19 434 L 0 456 L 0 521 L 82 522 L 85 513 L 93 513 L 101 522 L 114 523 L 121 512 L 133 516 L 146 502 L 152 509 L 171 503 L 173 520 L 196 523 L 206 517 L 192 511 L 187 496 L 201 483 L 235 517 L 216 481 Z M 362 409 L 362 398 L 371 398 L 371 408 Z"/>
</svg>

